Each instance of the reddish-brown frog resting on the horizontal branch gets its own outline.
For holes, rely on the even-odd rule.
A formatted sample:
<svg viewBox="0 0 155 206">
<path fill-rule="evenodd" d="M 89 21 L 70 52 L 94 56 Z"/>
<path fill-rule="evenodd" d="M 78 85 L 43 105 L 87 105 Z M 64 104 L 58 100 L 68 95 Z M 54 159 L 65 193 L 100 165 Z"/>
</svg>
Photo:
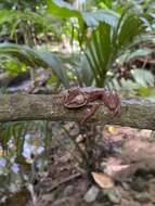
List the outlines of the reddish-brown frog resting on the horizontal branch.
<svg viewBox="0 0 155 206">
<path fill-rule="evenodd" d="M 121 102 L 119 95 L 114 90 L 107 88 L 70 88 L 64 96 L 64 106 L 67 108 L 80 108 L 95 100 L 102 100 L 114 116 L 120 113 Z M 89 106 L 81 119 L 81 124 L 85 124 L 95 113 L 100 104 L 96 103 Z"/>
</svg>

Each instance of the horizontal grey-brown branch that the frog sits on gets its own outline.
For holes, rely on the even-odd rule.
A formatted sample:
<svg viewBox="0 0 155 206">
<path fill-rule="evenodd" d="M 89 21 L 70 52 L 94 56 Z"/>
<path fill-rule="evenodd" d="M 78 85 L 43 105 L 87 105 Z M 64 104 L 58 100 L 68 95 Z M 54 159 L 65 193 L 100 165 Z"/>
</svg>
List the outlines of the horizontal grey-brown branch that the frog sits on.
<svg viewBox="0 0 155 206">
<path fill-rule="evenodd" d="M 61 95 L 44 94 L 4 94 L 0 96 L 0 121 L 14 120 L 65 120 L 79 121 L 85 115 L 82 110 L 64 108 Z M 92 104 L 95 104 L 92 103 Z M 114 124 L 134 128 L 155 129 L 155 104 L 144 99 L 121 101 L 121 114 L 112 116 L 109 111 L 101 106 L 91 118 L 96 125 Z"/>
</svg>

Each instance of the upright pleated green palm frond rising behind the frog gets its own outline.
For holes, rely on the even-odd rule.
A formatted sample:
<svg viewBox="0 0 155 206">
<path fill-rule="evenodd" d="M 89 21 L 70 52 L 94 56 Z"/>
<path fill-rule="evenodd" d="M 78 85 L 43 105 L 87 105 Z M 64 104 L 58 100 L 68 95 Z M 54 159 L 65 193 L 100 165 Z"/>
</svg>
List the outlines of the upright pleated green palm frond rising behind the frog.
<svg viewBox="0 0 155 206">
<path fill-rule="evenodd" d="M 115 26 L 100 23 L 93 30 L 85 54 L 98 87 L 104 86 L 107 70 L 116 57 L 142 40 L 140 37 L 146 31 L 142 16 L 126 9 Z"/>
</svg>

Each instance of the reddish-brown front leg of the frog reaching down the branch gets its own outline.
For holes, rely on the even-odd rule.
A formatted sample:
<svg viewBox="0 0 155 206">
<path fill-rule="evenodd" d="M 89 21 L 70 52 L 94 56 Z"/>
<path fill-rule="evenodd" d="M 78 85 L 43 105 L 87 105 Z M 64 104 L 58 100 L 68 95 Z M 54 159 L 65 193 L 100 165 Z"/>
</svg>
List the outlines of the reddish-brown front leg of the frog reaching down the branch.
<svg viewBox="0 0 155 206">
<path fill-rule="evenodd" d="M 94 115 L 99 107 L 100 104 L 93 104 L 89 108 L 87 108 L 83 118 L 80 120 L 80 125 L 85 125 L 90 119 L 90 117 Z"/>
</svg>

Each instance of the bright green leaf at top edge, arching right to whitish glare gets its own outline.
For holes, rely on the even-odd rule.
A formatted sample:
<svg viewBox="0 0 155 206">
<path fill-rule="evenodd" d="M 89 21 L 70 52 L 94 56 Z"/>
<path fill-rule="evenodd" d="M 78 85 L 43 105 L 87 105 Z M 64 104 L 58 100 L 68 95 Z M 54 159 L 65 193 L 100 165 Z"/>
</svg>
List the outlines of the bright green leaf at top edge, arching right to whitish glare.
<svg viewBox="0 0 155 206">
<path fill-rule="evenodd" d="M 73 8 L 70 3 L 62 0 L 47 0 L 48 12 L 59 17 L 77 17 L 79 25 L 82 27 L 83 23 L 89 27 L 96 27 L 100 22 L 105 22 L 115 26 L 119 14 L 113 10 L 99 10 L 95 12 L 80 12 Z"/>
</svg>

